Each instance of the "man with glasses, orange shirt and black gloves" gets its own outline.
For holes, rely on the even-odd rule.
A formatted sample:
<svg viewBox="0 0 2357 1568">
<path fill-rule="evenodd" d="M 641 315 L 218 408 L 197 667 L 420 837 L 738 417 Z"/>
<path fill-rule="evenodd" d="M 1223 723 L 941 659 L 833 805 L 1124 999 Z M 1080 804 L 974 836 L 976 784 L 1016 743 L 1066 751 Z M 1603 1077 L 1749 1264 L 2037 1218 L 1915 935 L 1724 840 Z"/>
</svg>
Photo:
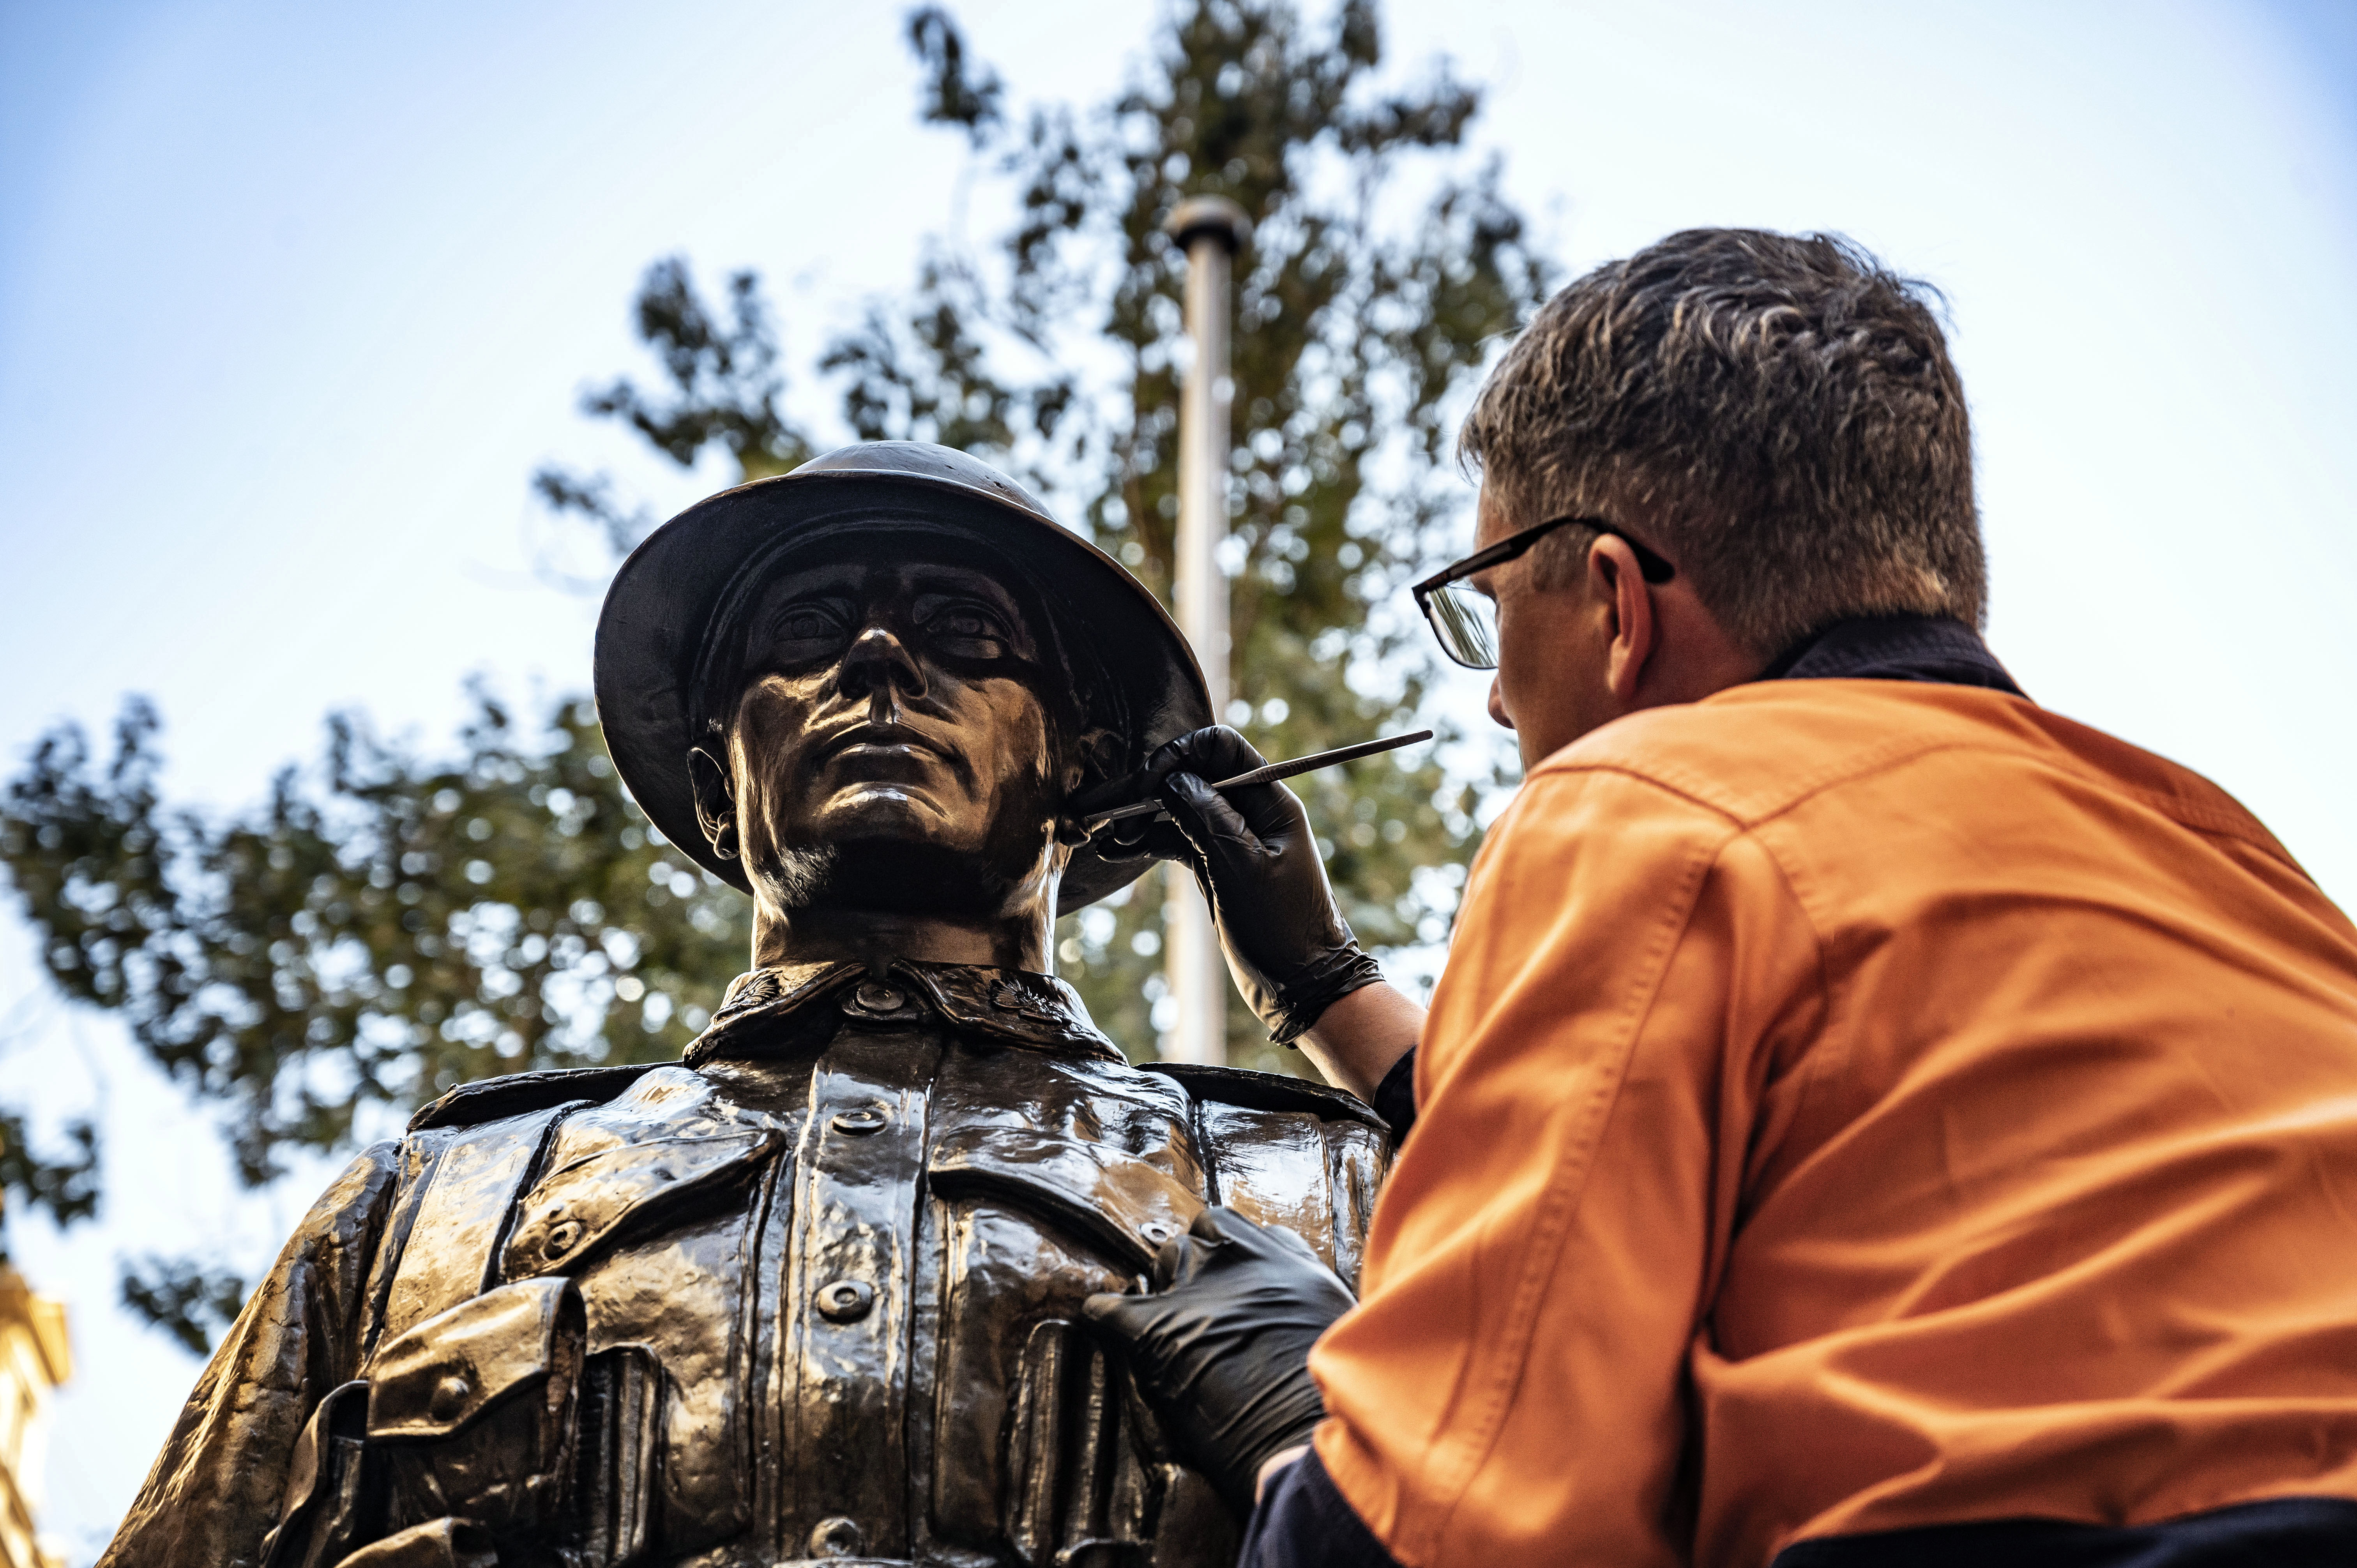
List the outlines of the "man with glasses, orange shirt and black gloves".
<svg viewBox="0 0 2357 1568">
<path fill-rule="evenodd" d="M 1926 295 L 1676 233 L 1473 406 L 1417 599 L 1527 778 L 1431 1016 L 1282 1014 L 1414 1127 L 1362 1294 L 1214 1207 L 1089 1304 L 1244 1561 L 2357 1561 L 2357 929 L 1987 651 Z M 1252 762 L 1162 747 L 1136 849 L 1299 997 L 1348 929 Z"/>
</svg>

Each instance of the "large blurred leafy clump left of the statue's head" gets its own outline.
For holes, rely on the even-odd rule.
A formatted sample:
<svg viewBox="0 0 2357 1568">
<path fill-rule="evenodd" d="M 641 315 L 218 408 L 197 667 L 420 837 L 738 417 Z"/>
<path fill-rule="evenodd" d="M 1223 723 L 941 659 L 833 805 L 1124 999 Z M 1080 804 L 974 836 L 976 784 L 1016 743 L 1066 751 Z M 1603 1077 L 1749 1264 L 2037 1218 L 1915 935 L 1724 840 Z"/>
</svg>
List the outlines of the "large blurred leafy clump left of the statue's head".
<svg viewBox="0 0 2357 1568">
<path fill-rule="evenodd" d="M 247 1181 L 370 1106 L 676 1056 L 740 969 L 745 901 L 653 835 L 587 703 L 523 738 L 481 698 L 462 745 L 424 764 L 335 717 L 311 776 L 207 823 L 158 804 L 132 703 L 104 771 L 66 729 L 7 790 L 0 856 L 49 979 L 229 1106 Z"/>
</svg>

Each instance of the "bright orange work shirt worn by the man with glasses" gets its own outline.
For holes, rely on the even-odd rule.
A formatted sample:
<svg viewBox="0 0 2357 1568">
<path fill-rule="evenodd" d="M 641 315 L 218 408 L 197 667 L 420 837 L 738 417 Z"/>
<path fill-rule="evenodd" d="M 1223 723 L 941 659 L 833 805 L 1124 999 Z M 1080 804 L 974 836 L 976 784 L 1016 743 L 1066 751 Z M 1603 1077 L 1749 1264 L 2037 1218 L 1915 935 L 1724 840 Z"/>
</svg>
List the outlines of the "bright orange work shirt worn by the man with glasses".
<svg viewBox="0 0 2357 1568">
<path fill-rule="evenodd" d="M 2357 1497 L 2357 929 L 1994 691 L 1763 681 L 1466 887 L 1318 1455 L 1405 1568 Z"/>
</svg>

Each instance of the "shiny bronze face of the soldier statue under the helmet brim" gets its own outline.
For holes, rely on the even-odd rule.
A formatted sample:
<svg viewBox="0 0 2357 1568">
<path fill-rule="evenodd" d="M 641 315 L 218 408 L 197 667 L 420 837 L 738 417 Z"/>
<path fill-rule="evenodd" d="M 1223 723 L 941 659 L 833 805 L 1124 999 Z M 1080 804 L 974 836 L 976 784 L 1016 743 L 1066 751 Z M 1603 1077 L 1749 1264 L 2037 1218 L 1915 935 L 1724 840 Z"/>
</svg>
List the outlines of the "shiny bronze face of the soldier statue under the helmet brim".
<svg viewBox="0 0 2357 1568">
<path fill-rule="evenodd" d="M 728 726 L 745 870 L 780 905 L 1018 913 L 1054 903 L 1080 783 L 1049 722 L 1063 670 L 976 566 L 834 559 L 768 582 Z"/>
</svg>

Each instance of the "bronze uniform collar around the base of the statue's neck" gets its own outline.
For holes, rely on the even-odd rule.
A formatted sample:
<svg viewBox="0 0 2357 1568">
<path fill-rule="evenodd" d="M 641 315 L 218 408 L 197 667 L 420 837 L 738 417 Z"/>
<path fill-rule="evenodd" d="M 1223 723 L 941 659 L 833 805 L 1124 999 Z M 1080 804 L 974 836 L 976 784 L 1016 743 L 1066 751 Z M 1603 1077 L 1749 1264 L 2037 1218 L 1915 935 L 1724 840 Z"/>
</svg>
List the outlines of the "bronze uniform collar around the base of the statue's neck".
<svg viewBox="0 0 2357 1568">
<path fill-rule="evenodd" d="M 990 964 L 896 960 L 768 964 L 728 983 L 712 1028 L 688 1045 L 686 1061 L 768 1056 L 823 1042 L 844 1021 L 896 1023 L 940 1019 L 959 1033 L 1042 1052 L 1124 1061 L 1098 1033 L 1080 993 L 1054 974 Z"/>
</svg>

